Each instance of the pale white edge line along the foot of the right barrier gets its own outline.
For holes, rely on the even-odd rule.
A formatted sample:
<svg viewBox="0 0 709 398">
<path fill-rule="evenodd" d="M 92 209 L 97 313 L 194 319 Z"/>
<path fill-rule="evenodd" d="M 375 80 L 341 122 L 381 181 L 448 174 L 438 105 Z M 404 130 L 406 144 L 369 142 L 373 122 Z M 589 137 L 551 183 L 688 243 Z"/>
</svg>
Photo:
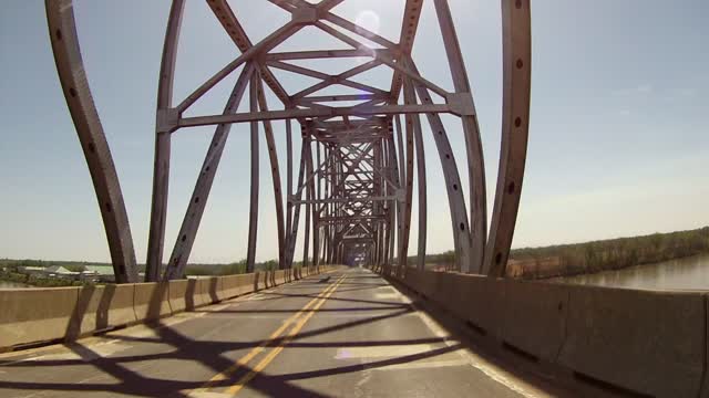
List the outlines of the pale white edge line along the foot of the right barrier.
<svg viewBox="0 0 709 398">
<path fill-rule="evenodd" d="M 452 346 L 454 346 L 454 345 L 460 343 L 460 342 L 453 339 L 451 337 L 451 335 L 448 334 L 443 329 L 443 327 L 441 325 L 439 325 L 438 322 L 435 322 L 433 318 L 431 318 L 429 315 L 427 315 L 423 311 L 421 311 L 421 308 L 419 308 L 409 297 L 407 297 L 405 295 L 401 294 L 401 292 L 399 292 L 399 291 L 397 291 L 397 294 L 399 295 L 399 297 L 400 297 L 402 303 L 411 305 L 411 307 L 415 311 L 415 314 L 423 322 L 423 324 L 425 324 L 425 326 L 429 328 L 429 331 L 431 331 L 431 333 L 433 333 L 433 335 L 435 337 L 442 338 L 443 339 L 443 344 L 445 344 L 446 347 L 452 347 Z M 502 370 L 502 369 L 500 369 L 497 367 L 494 367 L 494 366 L 487 364 L 483 358 L 481 358 L 477 355 L 474 355 L 469 349 L 466 349 L 466 348 L 465 349 L 456 349 L 455 353 L 459 354 L 470 366 L 479 369 L 480 371 L 485 374 L 487 377 L 490 377 L 491 379 L 497 381 L 499 384 L 507 387 L 512 391 L 515 391 L 515 392 L 517 392 L 517 394 L 520 394 L 520 395 L 522 395 L 523 397 L 526 397 L 526 398 L 538 398 L 540 397 L 540 396 L 537 396 L 535 394 L 532 394 L 532 392 L 527 391 L 523 387 L 518 386 L 515 383 L 515 380 L 511 379 L 514 376 L 507 374 L 506 371 L 504 371 L 504 370 Z"/>
</svg>

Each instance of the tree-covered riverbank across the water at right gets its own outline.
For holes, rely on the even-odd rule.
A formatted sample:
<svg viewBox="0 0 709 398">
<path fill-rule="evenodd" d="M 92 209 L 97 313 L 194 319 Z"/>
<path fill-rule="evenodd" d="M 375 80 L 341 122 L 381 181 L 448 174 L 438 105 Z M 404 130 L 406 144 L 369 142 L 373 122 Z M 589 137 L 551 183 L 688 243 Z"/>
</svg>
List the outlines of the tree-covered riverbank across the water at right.
<svg viewBox="0 0 709 398">
<path fill-rule="evenodd" d="M 525 280 L 574 276 L 655 264 L 709 253 L 709 227 L 512 251 L 507 276 Z"/>
</svg>

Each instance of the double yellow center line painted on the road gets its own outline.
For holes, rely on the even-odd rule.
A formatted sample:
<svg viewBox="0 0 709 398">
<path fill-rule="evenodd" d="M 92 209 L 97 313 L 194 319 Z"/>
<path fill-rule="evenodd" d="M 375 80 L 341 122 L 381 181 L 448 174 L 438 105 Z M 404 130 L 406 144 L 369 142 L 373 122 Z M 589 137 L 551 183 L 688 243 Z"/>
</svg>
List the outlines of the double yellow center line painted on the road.
<svg viewBox="0 0 709 398">
<path fill-rule="evenodd" d="M 217 381 L 222 381 L 227 379 L 229 376 L 234 375 L 238 369 L 246 367 L 246 365 L 254 359 L 257 355 L 267 349 L 267 347 L 271 346 L 273 343 L 279 338 L 284 332 L 288 329 L 290 325 L 294 327 L 285 335 L 285 338 L 276 346 L 273 346 L 271 350 L 266 355 L 256 366 L 249 370 L 248 374 L 244 375 L 236 384 L 232 385 L 225 392 L 230 395 L 236 395 L 238 391 L 246 386 L 256 375 L 258 375 L 268 364 L 270 364 L 280 352 L 288 345 L 290 341 L 300 332 L 302 326 L 315 315 L 315 313 L 325 304 L 325 302 L 335 293 L 335 290 L 345 282 L 346 275 L 340 276 L 337 281 L 332 282 L 326 290 L 320 292 L 317 297 L 312 298 L 308 304 L 306 304 L 300 311 L 290 316 L 284 324 L 277 328 L 274 333 L 268 336 L 268 339 L 258 345 L 257 347 L 251 348 L 248 354 L 240 357 L 234 365 L 229 366 L 227 369 L 222 371 L 220 374 L 215 375 L 209 381 L 205 383 L 202 387 L 193 392 L 204 392 L 212 388 Z M 307 312 L 307 314 L 306 314 Z M 302 316 L 306 314 L 305 316 Z"/>
</svg>

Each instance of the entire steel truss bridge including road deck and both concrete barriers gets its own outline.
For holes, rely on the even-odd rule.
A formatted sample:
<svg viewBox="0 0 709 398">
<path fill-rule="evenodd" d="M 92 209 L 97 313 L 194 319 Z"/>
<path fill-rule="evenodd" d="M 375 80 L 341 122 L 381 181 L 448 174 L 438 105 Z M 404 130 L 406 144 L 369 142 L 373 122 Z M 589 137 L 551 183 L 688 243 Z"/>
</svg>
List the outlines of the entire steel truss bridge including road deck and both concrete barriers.
<svg viewBox="0 0 709 398">
<path fill-rule="evenodd" d="M 260 41 L 239 22 L 243 10 L 226 0 L 206 1 L 239 54 L 175 102 L 186 0 L 172 1 L 157 82 L 148 283 L 134 283 L 134 241 L 84 73 L 72 1 L 45 1 L 59 76 L 119 284 L 0 289 L 0 396 L 709 396 L 706 291 L 500 277 L 506 274 L 526 157 L 528 0 L 501 0 L 501 154 L 490 226 L 477 113 L 461 54 L 474 41 L 456 35 L 455 10 L 446 0 L 402 0 L 395 41 L 339 12 L 338 6 L 354 0 L 258 1 L 290 15 Z M 440 34 L 451 92 L 435 83 L 439 76 L 422 74 L 423 63 L 412 55 L 424 1 L 433 6 L 438 27 L 427 34 Z M 278 50 L 306 28 L 345 45 Z M 366 61 L 337 73 L 315 66 L 352 57 Z M 364 78 L 374 69 L 389 70 L 384 88 Z M 286 90 L 284 71 L 315 83 Z M 198 114 L 194 105 L 218 93 L 227 76 L 235 85 L 224 111 Z M 452 125 L 444 117 L 460 119 L 454 122 L 464 156 L 453 156 Z M 185 279 L 235 123 L 250 126 L 249 270 Z M 214 126 L 214 134 L 163 264 L 171 140 L 193 126 Z M 277 150 L 277 134 L 286 138 L 285 154 Z M 427 165 L 427 150 L 438 154 L 443 170 L 456 272 L 424 269 L 432 205 L 427 193 L 433 186 L 425 178 L 435 159 Z M 261 153 L 269 170 L 259 170 Z M 275 200 L 264 201 L 258 185 L 268 171 Z M 470 182 L 469 191 L 461 180 Z M 274 203 L 280 270 L 254 270 L 258 210 Z M 296 242 L 305 243 L 302 253 Z M 407 263 L 409 251 L 417 252 L 415 263 Z M 297 259 L 307 266 L 294 266 Z"/>
</svg>

